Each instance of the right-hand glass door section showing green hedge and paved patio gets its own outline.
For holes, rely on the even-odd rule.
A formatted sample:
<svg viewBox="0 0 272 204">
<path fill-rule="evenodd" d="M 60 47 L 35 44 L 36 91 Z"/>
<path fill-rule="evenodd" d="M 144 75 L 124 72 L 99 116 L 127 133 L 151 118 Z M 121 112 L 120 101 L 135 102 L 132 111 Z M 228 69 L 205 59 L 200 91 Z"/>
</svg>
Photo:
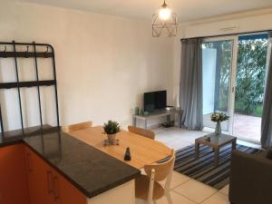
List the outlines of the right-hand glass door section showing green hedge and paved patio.
<svg viewBox="0 0 272 204">
<path fill-rule="evenodd" d="M 267 41 L 268 34 L 238 36 L 232 133 L 248 141 L 260 141 L 267 74 Z"/>
</svg>

